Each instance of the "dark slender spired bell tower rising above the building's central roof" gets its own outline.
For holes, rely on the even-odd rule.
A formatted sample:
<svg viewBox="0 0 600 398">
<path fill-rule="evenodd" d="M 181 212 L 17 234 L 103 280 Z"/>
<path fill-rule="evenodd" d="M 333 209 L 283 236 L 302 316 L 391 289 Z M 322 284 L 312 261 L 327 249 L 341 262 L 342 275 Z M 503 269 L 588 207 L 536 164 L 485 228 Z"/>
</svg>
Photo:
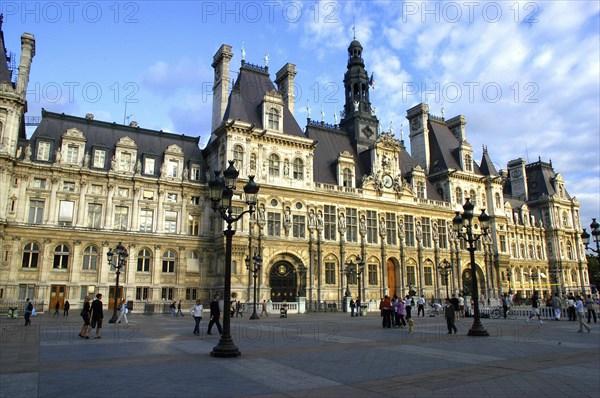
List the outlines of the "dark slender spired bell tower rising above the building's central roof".
<svg viewBox="0 0 600 398">
<path fill-rule="evenodd" d="M 357 151 L 368 149 L 377 139 L 379 121 L 369 100 L 369 75 L 356 38 L 348 47 L 348 69 L 344 74 L 345 104 L 340 129 L 356 143 Z"/>
</svg>

